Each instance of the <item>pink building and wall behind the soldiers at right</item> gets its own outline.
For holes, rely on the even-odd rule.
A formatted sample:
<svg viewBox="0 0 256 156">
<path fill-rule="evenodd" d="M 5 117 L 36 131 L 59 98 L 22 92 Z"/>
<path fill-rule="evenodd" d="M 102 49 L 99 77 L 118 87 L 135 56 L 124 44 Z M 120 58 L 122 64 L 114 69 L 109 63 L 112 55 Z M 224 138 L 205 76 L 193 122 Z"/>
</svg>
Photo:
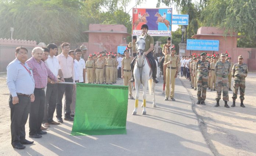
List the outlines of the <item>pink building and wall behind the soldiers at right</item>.
<svg viewBox="0 0 256 156">
<path fill-rule="evenodd" d="M 238 48 L 237 39 L 244 36 L 238 36 L 237 33 L 227 33 L 224 36 L 224 30 L 218 29 L 217 27 L 200 27 L 196 35 L 191 38 L 198 40 L 219 40 L 219 51 L 214 53 L 228 53 L 231 56 L 231 60 L 234 63 L 238 62 L 238 56 L 242 55 L 244 63 L 248 65 L 249 71 L 256 71 L 256 48 Z M 190 53 L 200 54 L 203 51 L 190 51 L 186 50 L 185 55 Z M 206 51 L 209 54 L 213 54 L 213 51 Z"/>
</svg>

